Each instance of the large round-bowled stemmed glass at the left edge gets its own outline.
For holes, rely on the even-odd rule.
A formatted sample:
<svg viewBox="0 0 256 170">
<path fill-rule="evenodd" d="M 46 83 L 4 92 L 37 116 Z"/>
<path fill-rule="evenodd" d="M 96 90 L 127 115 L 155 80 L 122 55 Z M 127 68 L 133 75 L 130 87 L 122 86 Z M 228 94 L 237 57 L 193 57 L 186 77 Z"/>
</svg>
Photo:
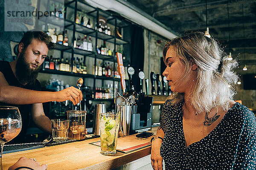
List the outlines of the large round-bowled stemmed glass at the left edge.
<svg viewBox="0 0 256 170">
<path fill-rule="evenodd" d="M 22 122 L 20 111 L 17 107 L 0 106 L 0 147 L 1 170 L 3 145 L 15 138 L 21 130 Z"/>
</svg>

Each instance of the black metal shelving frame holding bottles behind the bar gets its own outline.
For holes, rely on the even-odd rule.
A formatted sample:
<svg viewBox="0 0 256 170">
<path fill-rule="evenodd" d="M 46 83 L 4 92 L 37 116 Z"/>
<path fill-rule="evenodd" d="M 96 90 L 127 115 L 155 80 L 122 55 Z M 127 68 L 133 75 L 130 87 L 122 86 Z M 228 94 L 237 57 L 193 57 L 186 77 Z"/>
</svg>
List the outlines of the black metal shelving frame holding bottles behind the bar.
<svg viewBox="0 0 256 170">
<path fill-rule="evenodd" d="M 56 0 L 48 0 L 47 8 L 49 8 L 50 1 L 56 2 Z M 73 11 L 73 13 L 72 13 L 73 18 L 70 16 L 67 16 L 68 15 L 67 9 L 70 11 Z M 71 54 L 70 60 L 71 60 L 72 66 L 73 66 L 73 60 L 75 59 L 74 54 L 79 54 L 79 55 L 83 56 L 84 63 L 85 63 L 86 57 L 93 57 L 94 65 L 96 65 L 97 59 L 102 59 L 103 62 L 104 61 L 113 62 L 113 69 L 115 71 L 115 64 L 117 62 L 117 59 L 115 56 L 116 51 L 117 51 L 116 45 L 125 45 L 125 44 L 131 43 L 130 39 L 123 40 L 123 39 L 116 37 L 116 29 L 119 28 L 119 29 L 123 30 L 123 28 L 130 26 L 131 23 L 124 20 L 124 18 L 116 17 L 109 12 L 102 11 L 99 8 L 94 8 L 93 6 L 90 6 L 81 0 L 64 0 L 64 11 L 65 11 L 65 13 L 63 15 L 64 18 L 55 17 L 53 19 L 52 17 L 49 17 L 49 18 L 45 17 L 45 18 L 42 18 L 40 21 L 38 20 L 38 23 L 36 23 L 36 25 L 38 26 L 38 28 L 41 28 L 41 26 L 44 25 L 46 30 L 48 30 L 49 25 L 54 26 L 54 27 L 64 26 L 63 35 L 64 35 L 65 30 L 69 30 L 70 32 L 72 32 L 72 39 L 69 40 L 69 45 L 73 45 L 70 42 L 72 42 L 73 39 L 76 37 L 75 36 L 76 33 L 86 34 L 87 37 L 91 36 L 95 39 L 95 41 L 93 42 L 93 51 L 86 51 L 86 50 L 82 50 L 82 49 L 78 49 L 78 48 L 73 48 L 73 46 L 65 46 L 65 45 L 60 45 L 60 44 L 56 43 L 55 50 L 61 51 L 61 58 L 64 57 L 64 52 L 70 53 Z M 93 19 L 92 28 L 88 28 L 84 25 L 81 25 L 81 24 L 78 24 L 75 22 L 78 11 L 82 11 L 84 14 L 86 14 L 87 16 L 89 16 L 90 18 Z M 99 32 L 99 31 L 93 29 L 93 28 L 95 28 L 95 25 L 98 26 L 99 16 L 107 18 L 107 23 L 111 24 L 113 26 L 114 29 L 111 31 L 111 35 L 108 35 L 108 34 L 105 34 L 103 32 Z M 123 32 L 123 34 L 125 34 L 125 33 Z M 99 40 L 106 41 L 108 43 L 113 44 L 114 49 L 112 52 L 112 56 L 97 54 L 96 46 L 98 45 L 97 42 Z M 131 50 L 129 51 L 129 53 L 131 54 Z M 127 61 L 124 60 L 124 65 L 127 66 L 129 64 L 129 62 L 130 62 L 129 60 L 127 60 Z M 96 91 L 96 79 L 99 79 L 102 81 L 105 81 L 105 80 L 112 81 L 113 82 L 113 91 L 115 88 L 114 87 L 115 82 L 120 82 L 120 79 L 114 78 L 114 77 L 101 77 L 101 76 L 96 76 L 96 75 L 92 75 L 92 74 L 79 74 L 79 73 L 56 71 L 56 70 L 49 70 L 49 69 L 41 70 L 41 73 L 83 77 L 85 79 L 85 81 L 86 81 L 86 78 L 93 78 L 93 87 L 92 88 L 93 88 L 94 94 Z M 95 73 L 95 67 L 94 67 L 93 73 Z M 126 81 L 127 87 L 129 87 L 128 83 L 129 82 Z M 102 82 L 102 84 L 103 84 L 103 82 Z M 118 83 L 118 88 L 120 88 L 120 83 Z M 94 99 L 94 100 L 95 101 L 103 101 L 103 100 L 113 100 L 113 99 Z"/>
</svg>

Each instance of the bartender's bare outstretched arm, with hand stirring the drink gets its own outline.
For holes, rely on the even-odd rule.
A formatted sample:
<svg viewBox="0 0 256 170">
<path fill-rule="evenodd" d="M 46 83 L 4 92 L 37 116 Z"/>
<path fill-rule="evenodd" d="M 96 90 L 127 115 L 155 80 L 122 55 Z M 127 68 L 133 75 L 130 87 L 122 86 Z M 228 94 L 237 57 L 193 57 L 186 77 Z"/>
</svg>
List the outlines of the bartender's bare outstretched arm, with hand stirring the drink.
<svg viewBox="0 0 256 170">
<path fill-rule="evenodd" d="M 82 100 L 83 95 L 77 88 L 69 87 L 58 92 L 33 91 L 25 88 L 11 86 L 6 81 L 3 73 L 0 72 L 0 102 L 26 105 L 34 103 L 44 103 L 50 101 L 62 102 L 70 100 L 74 105 Z"/>
</svg>

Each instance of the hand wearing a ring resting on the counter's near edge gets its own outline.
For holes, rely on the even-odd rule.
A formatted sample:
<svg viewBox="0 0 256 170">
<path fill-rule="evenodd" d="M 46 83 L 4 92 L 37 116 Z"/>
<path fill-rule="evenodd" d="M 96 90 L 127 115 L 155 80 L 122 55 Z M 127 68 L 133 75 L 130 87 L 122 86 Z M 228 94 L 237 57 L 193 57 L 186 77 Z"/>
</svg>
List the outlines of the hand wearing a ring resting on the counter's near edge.
<svg viewBox="0 0 256 170">
<path fill-rule="evenodd" d="M 17 167 L 30 167 L 33 170 L 46 170 L 47 164 L 41 164 L 40 166 L 40 163 L 38 161 L 34 161 L 33 159 L 27 159 L 25 157 L 20 157 L 20 159 L 11 167 L 9 167 L 8 170 L 15 170 Z"/>
</svg>

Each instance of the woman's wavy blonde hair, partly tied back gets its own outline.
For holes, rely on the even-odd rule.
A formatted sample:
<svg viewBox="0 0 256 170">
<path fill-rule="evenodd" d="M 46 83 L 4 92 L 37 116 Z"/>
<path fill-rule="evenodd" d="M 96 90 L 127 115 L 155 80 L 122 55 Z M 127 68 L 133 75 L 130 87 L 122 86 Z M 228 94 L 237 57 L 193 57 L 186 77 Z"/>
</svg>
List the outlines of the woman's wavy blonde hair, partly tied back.
<svg viewBox="0 0 256 170">
<path fill-rule="evenodd" d="M 197 65 L 195 87 L 190 94 L 191 105 L 197 113 L 209 112 L 221 106 L 224 111 L 229 108 L 229 99 L 236 94 L 234 87 L 238 76 L 233 71 L 238 63 L 227 60 L 227 54 L 212 37 L 201 32 L 190 32 L 181 37 L 169 40 L 163 48 L 163 59 L 172 47 L 178 59 L 185 65 L 183 76 L 174 83 L 182 82 L 191 71 L 192 64 Z M 184 99 L 183 93 L 174 92 L 168 97 L 176 105 Z"/>
</svg>

